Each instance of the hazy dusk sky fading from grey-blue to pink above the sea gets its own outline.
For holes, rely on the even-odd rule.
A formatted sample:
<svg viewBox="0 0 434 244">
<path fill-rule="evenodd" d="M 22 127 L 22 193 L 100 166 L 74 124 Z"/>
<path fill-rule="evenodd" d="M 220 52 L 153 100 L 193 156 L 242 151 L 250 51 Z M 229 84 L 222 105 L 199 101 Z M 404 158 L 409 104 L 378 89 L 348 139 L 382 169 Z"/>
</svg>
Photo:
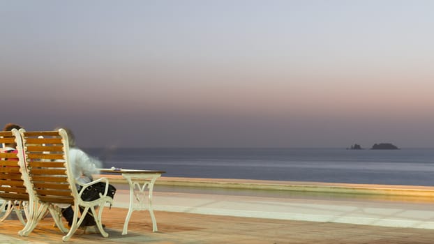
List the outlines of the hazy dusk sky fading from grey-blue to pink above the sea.
<svg viewBox="0 0 434 244">
<path fill-rule="evenodd" d="M 85 147 L 434 147 L 433 10 L 0 0 L 0 124 Z"/>
</svg>

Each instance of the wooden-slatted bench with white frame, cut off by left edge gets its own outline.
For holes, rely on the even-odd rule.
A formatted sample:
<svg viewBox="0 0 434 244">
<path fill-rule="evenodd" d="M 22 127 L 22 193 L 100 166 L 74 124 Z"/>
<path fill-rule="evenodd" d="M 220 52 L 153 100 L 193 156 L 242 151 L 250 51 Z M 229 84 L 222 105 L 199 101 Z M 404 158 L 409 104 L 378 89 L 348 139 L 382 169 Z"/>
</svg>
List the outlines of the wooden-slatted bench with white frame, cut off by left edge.
<svg viewBox="0 0 434 244">
<path fill-rule="evenodd" d="M 0 144 L 21 144 L 21 137 L 17 130 L 15 134 L 11 131 L 0 131 Z M 20 222 L 26 224 L 29 218 L 28 201 L 22 170 L 26 170 L 24 160 L 20 160 L 17 151 L 6 152 L 0 148 L 0 222 L 6 220 L 10 213 L 15 212 Z M 22 153 L 22 152 L 21 152 Z M 24 211 L 25 219 L 22 216 Z"/>
</svg>

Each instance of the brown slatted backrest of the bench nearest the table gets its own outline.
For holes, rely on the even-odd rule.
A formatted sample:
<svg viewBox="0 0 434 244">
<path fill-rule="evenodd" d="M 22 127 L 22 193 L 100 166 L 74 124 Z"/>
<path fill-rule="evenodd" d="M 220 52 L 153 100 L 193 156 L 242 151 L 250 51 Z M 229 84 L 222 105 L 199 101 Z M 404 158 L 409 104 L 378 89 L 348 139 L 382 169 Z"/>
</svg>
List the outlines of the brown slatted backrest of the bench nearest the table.
<svg viewBox="0 0 434 244">
<path fill-rule="evenodd" d="M 68 136 L 64 130 L 26 132 L 20 130 L 30 186 L 35 199 L 54 204 L 74 204 L 66 167 Z"/>
</svg>

